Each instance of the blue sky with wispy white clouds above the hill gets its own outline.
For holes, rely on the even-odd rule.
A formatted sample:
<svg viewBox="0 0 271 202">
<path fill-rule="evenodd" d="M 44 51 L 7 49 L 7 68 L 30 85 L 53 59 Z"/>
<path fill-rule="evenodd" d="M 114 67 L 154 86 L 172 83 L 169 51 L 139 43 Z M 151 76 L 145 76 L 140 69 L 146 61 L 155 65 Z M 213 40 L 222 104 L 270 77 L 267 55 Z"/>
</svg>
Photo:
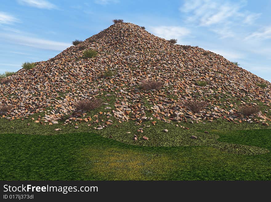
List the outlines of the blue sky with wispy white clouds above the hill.
<svg viewBox="0 0 271 202">
<path fill-rule="evenodd" d="M 54 57 L 112 19 L 237 61 L 271 81 L 270 0 L 1 0 L 0 73 Z"/>
</svg>

